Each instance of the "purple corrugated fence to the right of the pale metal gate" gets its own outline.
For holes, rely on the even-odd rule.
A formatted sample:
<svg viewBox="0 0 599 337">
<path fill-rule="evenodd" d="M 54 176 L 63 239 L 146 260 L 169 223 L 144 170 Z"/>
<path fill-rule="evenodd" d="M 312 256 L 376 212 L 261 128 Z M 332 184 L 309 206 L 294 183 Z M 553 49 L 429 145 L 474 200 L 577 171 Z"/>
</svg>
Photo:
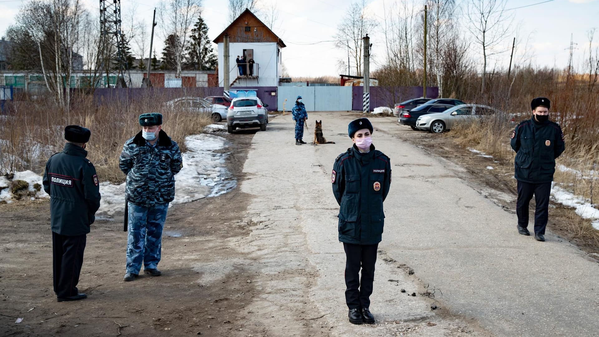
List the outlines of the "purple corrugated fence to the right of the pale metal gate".
<svg viewBox="0 0 599 337">
<path fill-rule="evenodd" d="M 352 110 L 362 110 L 362 98 L 364 96 L 363 86 L 353 88 Z M 426 97 L 437 98 L 439 88 L 429 86 L 426 88 Z M 421 86 L 371 86 L 370 87 L 370 110 L 376 107 L 392 107 L 395 103 L 422 97 Z"/>
</svg>

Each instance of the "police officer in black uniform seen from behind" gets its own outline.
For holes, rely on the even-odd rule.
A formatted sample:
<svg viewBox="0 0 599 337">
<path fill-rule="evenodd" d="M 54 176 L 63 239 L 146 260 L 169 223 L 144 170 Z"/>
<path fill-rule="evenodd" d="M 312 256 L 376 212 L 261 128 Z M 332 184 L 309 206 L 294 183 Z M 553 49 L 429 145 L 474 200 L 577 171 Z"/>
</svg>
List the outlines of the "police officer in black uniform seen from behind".
<svg viewBox="0 0 599 337">
<path fill-rule="evenodd" d="M 65 128 L 66 144 L 52 155 L 44 172 L 44 191 L 50 194 L 54 292 L 58 302 L 87 297 L 77 290 L 86 234 L 100 207 L 98 176 L 87 160 L 91 133 L 78 125 Z"/>
</svg>

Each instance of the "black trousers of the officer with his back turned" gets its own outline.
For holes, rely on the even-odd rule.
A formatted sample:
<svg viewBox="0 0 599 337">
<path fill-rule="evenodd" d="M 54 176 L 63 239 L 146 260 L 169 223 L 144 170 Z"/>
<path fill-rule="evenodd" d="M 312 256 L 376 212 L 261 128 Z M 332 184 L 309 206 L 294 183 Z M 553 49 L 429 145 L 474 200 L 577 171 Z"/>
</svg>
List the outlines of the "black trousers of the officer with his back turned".
<svg viewBox="0 0 599 337">
<path fill-rule="evenodd" d="M 77 283 L 83 265 L 86 234 L 66 236 L 52 232 L 54 292 L 63 299 L 78 293 Z"/>
</svg>

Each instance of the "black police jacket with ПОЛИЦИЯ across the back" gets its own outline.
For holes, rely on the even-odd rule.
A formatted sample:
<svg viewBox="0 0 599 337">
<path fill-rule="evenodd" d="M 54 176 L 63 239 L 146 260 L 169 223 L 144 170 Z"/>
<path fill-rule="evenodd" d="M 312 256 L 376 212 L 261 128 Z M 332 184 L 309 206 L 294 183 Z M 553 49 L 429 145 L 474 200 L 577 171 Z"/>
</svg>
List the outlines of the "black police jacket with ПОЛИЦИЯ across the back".
<svg viewBox="0 0 599 337">
<path fill-rule="evenodd" d="M 96 168 L 86 156 L 81 146 L 66 143 L 46 163 L 44 191 L 50 194 L 50 223 L 57 234 L 87 234 L 95 221 L 100 186 Z"/>
</svg>

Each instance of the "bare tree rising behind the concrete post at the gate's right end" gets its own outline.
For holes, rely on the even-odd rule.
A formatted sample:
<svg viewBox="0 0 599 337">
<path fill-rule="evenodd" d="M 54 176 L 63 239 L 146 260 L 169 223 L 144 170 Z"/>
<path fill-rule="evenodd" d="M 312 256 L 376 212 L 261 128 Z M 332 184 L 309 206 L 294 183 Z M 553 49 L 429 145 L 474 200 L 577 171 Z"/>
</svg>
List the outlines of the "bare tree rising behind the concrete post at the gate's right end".
<svg viewBox="0 0 599 337">
<path fill-rule="evenodd" d="M 349 51 L 350 59 L 355 64 L 356 76 L 362 76 L 362 38 L 366 34 L 372 34 L 378 25 L 370 13 L 367 13 L 365 0 L 361 0 L 353 2 L 347 8 L 345 16 L 337 26 L 337 34 L 333 37 L 337 41 L 335 47 Z"/>
</svg>

